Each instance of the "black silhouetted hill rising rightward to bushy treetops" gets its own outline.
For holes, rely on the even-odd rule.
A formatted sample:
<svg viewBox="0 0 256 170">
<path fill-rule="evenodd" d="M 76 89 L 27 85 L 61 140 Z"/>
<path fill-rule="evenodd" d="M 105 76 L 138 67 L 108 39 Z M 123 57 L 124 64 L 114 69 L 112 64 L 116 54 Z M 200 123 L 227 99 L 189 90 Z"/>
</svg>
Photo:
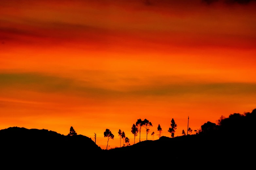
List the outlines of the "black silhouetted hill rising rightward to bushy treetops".
<svg viewBox="0 0 256 170">
<path fill-rule="evenodd" d="M 219 124 L 205 123 L 199 135 L 174 138 L 162 136 L 155 141 L 142 141 L 127 147 L 103 150 L 103 153 L 111 155 L 111 158 L 122 155 L 124 160 L 136 155 L 142 162 L 148 158 L 161 160 L 160 164 L 187 160 L 196 163 L 230 161 L 249 164 L 251 162 L 248 160 L 255 160 L 255 120 L 256 109 L 244 115 L 235 113 L 228 118 L 222 117 Z"/>
</svg>

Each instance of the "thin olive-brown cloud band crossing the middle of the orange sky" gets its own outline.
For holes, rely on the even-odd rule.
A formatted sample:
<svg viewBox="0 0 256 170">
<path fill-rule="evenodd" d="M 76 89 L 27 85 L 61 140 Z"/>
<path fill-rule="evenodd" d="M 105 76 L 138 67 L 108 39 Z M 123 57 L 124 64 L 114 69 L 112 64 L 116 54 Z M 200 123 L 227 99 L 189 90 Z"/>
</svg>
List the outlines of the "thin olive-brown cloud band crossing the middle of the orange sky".
<svg viewBox="0 0 256 170">
<path fill-rule="evenodd" d="M 113 90 L 94 84 L 94 81 L 79 81 L 69 78 L 45 76 L 35 73 L 0 74 L 2 90 L 27 90 L 43 93 L 61 93 L 79 97 L 120 99 L 143 96 L 179 95 L 252 95 L 256 94 L 255 83 L 191 83 L 134 86 L 124 90 Z M 152 81 L 153 82 L 153 81 Z"/>
</svg>

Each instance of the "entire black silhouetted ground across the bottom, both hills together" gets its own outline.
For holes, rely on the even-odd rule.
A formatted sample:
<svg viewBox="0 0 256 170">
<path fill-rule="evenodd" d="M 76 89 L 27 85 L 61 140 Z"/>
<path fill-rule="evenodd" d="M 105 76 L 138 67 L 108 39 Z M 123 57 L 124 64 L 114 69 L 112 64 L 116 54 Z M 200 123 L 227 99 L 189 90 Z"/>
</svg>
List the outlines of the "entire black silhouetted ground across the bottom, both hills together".
<svg viewBox="0 0 256 170">
<path fill-rule="evenodd" d="M 1 163 L 9 166 L 46 167 L 170 167 L 255 163 L 254 125 L 256 109 L 244 115 L 207 122 L 198 135 L 143 141 L 132 146 L 102 150 L 91 138 L 65 136 L 48 130 L 10 127 L 0 130 Z M 253 165 L 254 166 L 254 165 Z M 108 169 L 108 168 L 107 168 Z"/>
</svg>

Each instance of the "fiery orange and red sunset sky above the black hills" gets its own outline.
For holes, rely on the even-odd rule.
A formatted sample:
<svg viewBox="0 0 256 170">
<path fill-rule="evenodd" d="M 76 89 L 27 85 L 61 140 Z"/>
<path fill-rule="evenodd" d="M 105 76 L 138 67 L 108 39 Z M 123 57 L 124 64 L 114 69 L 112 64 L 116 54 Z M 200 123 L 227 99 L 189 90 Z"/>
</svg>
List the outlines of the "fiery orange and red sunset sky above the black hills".
<svg viewBox="0 0 256 170">
<path fill-rule="evenodd" d="M 1 0 L 0 129 L 175 136 L 256 108 L 256 1 Z M 142 140 L 146 130 L 142 129 Z M 139 142 L 139 135 L 135 143 Z M 123 141 L 122 141 L 123 143 Z"/>
</svg>

